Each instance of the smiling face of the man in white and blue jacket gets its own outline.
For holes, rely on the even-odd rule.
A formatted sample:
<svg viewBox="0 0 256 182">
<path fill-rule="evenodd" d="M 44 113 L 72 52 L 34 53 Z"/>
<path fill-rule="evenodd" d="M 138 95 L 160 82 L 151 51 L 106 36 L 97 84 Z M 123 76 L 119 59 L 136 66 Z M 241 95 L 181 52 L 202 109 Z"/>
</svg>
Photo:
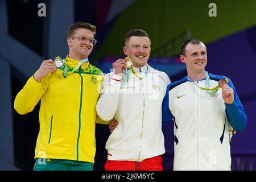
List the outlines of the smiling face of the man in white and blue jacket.
<svg viewBox="0 0 256 182">
<path fill-rule="evenodd" d="M 180 55 L 180 60 L 186 64 L 188 75 L 204 73 L 207 65 L 207 50 L 203 43 L 188 43 L 185 55 Z"/>
</svg>

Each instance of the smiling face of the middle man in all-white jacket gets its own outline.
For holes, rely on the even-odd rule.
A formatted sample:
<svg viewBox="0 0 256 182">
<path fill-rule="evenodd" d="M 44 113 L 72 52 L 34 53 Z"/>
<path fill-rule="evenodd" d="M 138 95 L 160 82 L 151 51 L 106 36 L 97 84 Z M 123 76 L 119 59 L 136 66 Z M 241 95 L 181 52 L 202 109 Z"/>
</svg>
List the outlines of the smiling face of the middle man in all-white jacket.
<svg viewBox="0 0 256 182">
<path fill-rule="evenodd" d="M 133 61 L 133 67 L 143 67 L 150 56 L 150 39 L 147 36 L 131 36 L 123 47 L 123 52 Z"/>
</svg>

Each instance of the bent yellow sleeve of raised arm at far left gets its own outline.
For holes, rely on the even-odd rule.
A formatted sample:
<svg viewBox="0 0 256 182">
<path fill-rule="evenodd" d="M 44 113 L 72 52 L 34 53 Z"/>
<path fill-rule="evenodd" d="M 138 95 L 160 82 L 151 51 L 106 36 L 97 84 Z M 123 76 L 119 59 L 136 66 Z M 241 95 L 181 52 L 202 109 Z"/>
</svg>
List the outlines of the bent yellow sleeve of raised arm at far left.
<svg viewBox="0 0 256 182">
<path fill-rule="evenodd" d="M 31 112 L 46 90 L 46 78 L 43 78 L 41 82 L 36 82 L 33 76 L 31 76 L 23 89 L 16 95 L 14 109 L 22 115 Z"/>
</svg>

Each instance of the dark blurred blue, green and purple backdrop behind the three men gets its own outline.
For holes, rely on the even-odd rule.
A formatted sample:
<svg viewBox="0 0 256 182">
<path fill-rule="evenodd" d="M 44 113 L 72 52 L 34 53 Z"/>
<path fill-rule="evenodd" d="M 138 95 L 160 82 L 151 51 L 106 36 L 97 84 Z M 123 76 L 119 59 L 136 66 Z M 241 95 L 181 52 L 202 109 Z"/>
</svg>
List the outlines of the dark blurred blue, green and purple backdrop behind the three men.
<svg viewBox="0 0 256 182">
<path fill-rule="evenodd" d="M 39 3 L 46 16 L 38 16 Z M 151 38 L 152 67 L 171 81 L 186 75 L 179 48 L 189 38 L 207 45 L 207 71 L 232 79 L 245 107 L 248 124 L 233 137 L 232 169 L 256 169 L 256 1 L 215 0 L 217 16 L 209 16 L 210 0 L 0 0 L 0 170 L 32 170 L 39 131 L 39 105 L 26 115 L 13 108 L 14 98 L 43 60 L 68 54 L 67 29 L 77 21 L 97 27 L 90 63 L 110 72 L 122 52 L 127 31 L 142 28 Z M 95 170 L 104 170 L 107 125 L 96 126 Z M 173 125 L 164 129 L 163 167 L 172 170 Z"/>
</svg>

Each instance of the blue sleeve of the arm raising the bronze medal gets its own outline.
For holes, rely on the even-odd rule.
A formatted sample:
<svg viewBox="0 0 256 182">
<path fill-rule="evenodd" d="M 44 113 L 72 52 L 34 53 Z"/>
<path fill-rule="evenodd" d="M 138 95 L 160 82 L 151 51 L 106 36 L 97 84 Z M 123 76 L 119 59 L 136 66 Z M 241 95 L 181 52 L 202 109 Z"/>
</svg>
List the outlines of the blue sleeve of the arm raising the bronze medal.
<svg viewBox="0 0 256 182">
<path fill-rule="evenodd" d="M 232 104 L 225 104 L 226 115 L 230 125 L 237 131 L 243 131 L 247 125 L 247 115 L 243 109 L 242 103 L 238 98 L 236 89 L 230 79 L 228 85 L 234 90 L 234 102 Z"/>
</svg>

